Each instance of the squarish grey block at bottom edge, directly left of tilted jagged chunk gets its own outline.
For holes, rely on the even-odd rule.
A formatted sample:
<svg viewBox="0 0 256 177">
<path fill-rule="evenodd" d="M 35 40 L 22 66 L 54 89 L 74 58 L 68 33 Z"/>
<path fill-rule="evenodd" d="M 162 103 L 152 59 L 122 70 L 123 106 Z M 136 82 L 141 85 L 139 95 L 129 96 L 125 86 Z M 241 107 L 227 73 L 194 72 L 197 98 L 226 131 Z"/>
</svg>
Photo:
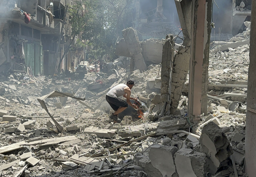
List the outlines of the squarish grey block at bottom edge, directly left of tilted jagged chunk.
<svg viewBox="0 0 256 177">
<path fill-rule="evenodd" d="M 207 172 L 206 155 L 192 149 L 180 149 L 174 155 L 179 177 L 205 177 Z"/>
</svg>

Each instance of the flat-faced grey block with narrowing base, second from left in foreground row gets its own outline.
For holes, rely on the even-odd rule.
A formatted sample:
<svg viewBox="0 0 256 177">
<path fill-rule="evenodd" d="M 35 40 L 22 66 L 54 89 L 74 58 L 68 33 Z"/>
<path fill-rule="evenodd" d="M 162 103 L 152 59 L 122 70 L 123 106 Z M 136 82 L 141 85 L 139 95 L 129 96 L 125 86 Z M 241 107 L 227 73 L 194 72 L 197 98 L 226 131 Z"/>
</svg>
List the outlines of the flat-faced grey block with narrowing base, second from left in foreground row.
<svg viewBox="0 0 256 177">
<path fill-rule="evenodd" d="M 178 149 L 173 146 L 153 145 L 150 147 L 148 157 L 153 167 L 158 169 L 163 177 L 172 177 L 176 172 L 173 157 L 177 151 Z"/>
</svg>

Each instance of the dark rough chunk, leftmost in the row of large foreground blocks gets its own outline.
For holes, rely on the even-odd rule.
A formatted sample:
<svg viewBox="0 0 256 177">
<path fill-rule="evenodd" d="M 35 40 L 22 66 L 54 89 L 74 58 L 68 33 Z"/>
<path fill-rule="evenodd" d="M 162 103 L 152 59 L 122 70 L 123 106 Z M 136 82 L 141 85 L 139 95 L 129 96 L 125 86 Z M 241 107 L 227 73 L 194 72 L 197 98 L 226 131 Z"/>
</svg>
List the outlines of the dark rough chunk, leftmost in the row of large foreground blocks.
<svg viewBox="0 0 256 177">
<path fill-rule="evenodd" d="M 151 164 L 150 158 L 141 153 L 134 156 L 134 165 L 142 167 L 149 177 L 163 177 L 162 173 Z"/>
</svg>

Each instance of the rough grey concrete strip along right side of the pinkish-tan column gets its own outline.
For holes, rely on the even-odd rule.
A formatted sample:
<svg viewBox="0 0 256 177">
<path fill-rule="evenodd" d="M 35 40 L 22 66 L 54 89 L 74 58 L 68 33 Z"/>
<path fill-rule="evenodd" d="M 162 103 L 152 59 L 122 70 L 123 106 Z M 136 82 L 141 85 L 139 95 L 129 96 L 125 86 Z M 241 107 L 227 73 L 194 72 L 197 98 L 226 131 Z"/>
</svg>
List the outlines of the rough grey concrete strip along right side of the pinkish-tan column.
<svg viewBox="0 0 256 177">
<path fill-rule="evenodd" d="M 209 83 L 209 53 L 210 53 L 210 37 L 212 23 L 212 0 L 206 0 L 205 25 L 204 25 L 204 58 L 203 58 L 203 73 L 202 73 L 202 100 L 201 114 L 207 115 L 208 102 L 208 83 Z"/>
</svg>

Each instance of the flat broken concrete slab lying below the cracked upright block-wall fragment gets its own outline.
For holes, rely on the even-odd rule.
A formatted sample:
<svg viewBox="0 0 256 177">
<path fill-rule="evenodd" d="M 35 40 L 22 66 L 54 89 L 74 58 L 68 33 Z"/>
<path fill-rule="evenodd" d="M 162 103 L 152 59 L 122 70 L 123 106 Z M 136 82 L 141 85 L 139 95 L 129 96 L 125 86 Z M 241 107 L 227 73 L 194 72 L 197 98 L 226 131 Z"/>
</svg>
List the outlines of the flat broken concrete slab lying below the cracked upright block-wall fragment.
<svg viewBox="0 0 256 177">
<path fill-rule="evenodd" d="M 173 120 L 162 121 L 158 125 L 157 132 L 168 132 L 170 130 L 174 130 L 179 127 L 182 127 L 185 124 L 186 124 L 185 119 L 173 119 Z"/>
</svg>

